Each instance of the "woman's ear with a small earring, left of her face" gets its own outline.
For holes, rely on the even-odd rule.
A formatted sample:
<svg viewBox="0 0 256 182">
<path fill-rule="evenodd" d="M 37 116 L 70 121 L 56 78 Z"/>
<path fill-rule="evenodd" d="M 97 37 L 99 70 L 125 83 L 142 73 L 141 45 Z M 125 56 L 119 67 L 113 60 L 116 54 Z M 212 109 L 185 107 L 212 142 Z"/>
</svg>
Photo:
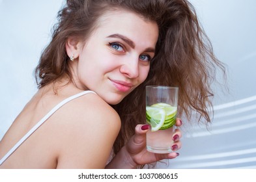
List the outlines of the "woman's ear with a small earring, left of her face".
<svg viewBox="0 0 256 182">
<path fill-rule="evenodd" d="M 81 51 L 81 42 L 77 37 L 69 37 L 66 41 L 66 53 L 68 57 L 74 57 L 74 59 L 79 57 L 79 53 Z"/>
</svg>

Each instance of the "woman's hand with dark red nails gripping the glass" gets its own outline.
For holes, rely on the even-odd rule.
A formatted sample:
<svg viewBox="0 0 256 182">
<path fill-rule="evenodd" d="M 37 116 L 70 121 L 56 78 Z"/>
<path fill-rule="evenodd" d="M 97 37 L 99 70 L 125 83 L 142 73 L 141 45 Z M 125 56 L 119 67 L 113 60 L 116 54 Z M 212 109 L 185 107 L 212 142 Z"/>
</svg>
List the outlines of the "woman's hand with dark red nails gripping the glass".
<svg viewBox="0 0 256 182">
<path fill-rule="evenodd" d="M 176 125 L 182 125 L 181 120 L 178 118 Z M 181 147 L 180 138 L 182 135 L 179 129 L 176 129 L 173 134 L 173 152 L 152 153 L 146 149 L 146 133 L 149 128 L 149 125 L 137 125 L 135 127 L 135 135 L 130 138 L 128 143 L 117 153 L 106 168 L 136 168 L 138 165 L 149 164 L 161 161 L 162 159 L 174 159 L 179 155 L 175 152 Z"/>
</svg>

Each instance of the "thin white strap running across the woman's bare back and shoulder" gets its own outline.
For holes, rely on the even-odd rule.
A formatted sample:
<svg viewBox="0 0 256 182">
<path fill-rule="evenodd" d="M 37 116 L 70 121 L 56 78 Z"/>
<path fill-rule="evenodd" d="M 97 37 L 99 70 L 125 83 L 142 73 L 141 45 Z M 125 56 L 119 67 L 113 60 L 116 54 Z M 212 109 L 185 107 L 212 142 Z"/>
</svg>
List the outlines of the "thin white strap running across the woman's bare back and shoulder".
<svg viewBox="0 0 256 182">
<path fill-rule="evenodd" d="M 7 154 L 5 154 L 5 156 L 0 160 L 0 166 L 1 164 L 3 164 L 3 162 L 5 162 L 5 160 L 7 160 L 8 157 L 10 157 L 10 155 L 12 155 L 12 153 L 25 141 L 27 140 L 27 138 L 29 138 L 30 135 L 32 135 L 32 133 L 34 133 L 36 131 L 36 129 L 38 129 L 38 127 L 40 127 L 40 125 L 42 125 L 42 123 L 46 122 L 46 120 L 48 120 L 48 118 L 50 118 L 50 116 L 56 112 L 56 110 L 58 110 L 59 108 L 61 108 L 65 103 L 68 103 L 69 101 L 71 101 L 72 99 L 76 99 L 79 98 L 80 96 L 83 96 L 85 94 L 88 93 L 94 93 L 95 92 L 91 91 L 91 90 L 86 90 L 84 92 L 81 92 L 79 94 L 76 94 L 74 96 L 70 96 L 69 98 L 64 99 L 63 101 L 61 101 L 61 103 L 57 104 L 55 107 L 53 107 L 53 109 L 50 110 L 50 112 L 48 112 L 46 114 L 46 116 L 44 116 L 44 118 L 42 118 L 38 123 L 36 123 L 36 125 L 29 130 L 21 139 L 20 141 L 18 141 L 14 147 L 12 147 Z"/>
</svg>

